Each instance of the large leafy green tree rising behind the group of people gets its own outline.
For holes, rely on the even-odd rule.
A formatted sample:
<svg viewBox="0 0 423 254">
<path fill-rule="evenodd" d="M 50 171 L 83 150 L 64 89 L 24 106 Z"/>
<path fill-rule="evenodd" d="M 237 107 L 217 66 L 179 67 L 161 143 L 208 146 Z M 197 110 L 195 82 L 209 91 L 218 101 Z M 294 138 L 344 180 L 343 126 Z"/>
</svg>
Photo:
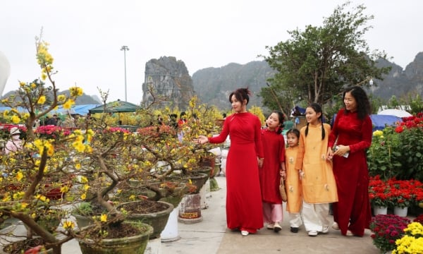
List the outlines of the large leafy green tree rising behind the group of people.
<svg viewBox="0 0 423 254">
<path fill-rule="evenodd" d="M 386 54 L 371 52 L 363 38 L 374 16 L 365 15 L 363 5 L 345 10 L 349 5 L 348 1 L 338 6 L 322 27 L 288 31 L 291 39 L 266 47 L 269 56 L 263 57 L 277 71 L 269 83 L 278 100 L 291 95 L 324 104 L 340 95 L 345 85 L 368 87 L 370 78 L 382 80 L 381 75 L 388 73 L 390 67 L 376 67 L 377 59 L 386 59 Z M 274 96 L 269 96 L 269 87 L 262 88 L 261 95 L 270 107 Z"/>
</svg>

